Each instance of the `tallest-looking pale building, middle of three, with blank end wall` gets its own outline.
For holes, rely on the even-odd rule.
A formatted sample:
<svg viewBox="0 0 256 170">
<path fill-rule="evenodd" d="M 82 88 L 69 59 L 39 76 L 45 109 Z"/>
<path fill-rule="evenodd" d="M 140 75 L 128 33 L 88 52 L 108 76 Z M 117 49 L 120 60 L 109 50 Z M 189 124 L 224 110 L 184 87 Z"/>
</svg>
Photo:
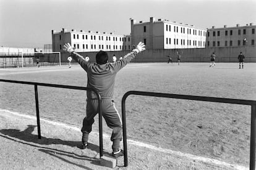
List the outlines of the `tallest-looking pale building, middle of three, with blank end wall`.
<svg viewBox="0 0 256 170">
<path fill-rule="evenodd" d="M 147 49 L 190 49 L 205 48 L 207 29 L 194 25 L 156 20 L 136 22 L 130 18 L 132 44 L 142 41 Z"/>
</svg>

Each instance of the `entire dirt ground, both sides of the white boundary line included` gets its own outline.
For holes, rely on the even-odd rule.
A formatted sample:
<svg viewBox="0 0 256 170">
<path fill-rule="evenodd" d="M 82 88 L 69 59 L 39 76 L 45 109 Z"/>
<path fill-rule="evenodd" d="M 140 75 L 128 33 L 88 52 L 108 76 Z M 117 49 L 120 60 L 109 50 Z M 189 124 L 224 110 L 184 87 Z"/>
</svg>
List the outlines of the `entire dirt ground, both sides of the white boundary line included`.
<svg viewBox="0 0 256 170">
<path fill-rule="evenodd" d="M 121 111 L 127 91 L 256 100 L 256 64 L 130 63 L 116 77 Z M 86 86 L 86 73 L 66 67 L 9 68 L 1 79 Z M 98 160 L 98 116 L 88 150 L 76 146 L 85 116 L 86 92 L 38 87 L 41 132 L 36 136 L 31 85 L 0 83 L 0 169 L 106 169 Z M 159 97 L 129 96 L 126 118 L 129 166 L 116 169 L 249 169 L 250 107 Z M 103 124 L 110 153 L 111 130 Z"/>
</svg>

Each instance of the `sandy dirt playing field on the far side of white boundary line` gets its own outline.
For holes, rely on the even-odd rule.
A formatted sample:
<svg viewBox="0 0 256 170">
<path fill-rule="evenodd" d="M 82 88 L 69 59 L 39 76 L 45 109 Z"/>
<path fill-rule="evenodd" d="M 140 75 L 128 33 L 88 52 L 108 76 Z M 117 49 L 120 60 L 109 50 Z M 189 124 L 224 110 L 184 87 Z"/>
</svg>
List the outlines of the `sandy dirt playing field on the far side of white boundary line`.
<svg viewBox="0 0 256 170">
<path fill-rule="evenodd" d="M 131 90 L 256 100 L 255 66 L 245 63 L 245 68 L 239 69 L 238 63 L 217 63 L 214 68 L 208 63 L 130 63 L 117 74 L 114 100 L 120 112 L 122 96 Z M 87 83 L 86 73 L 78 65 L 4 69 L 0 78 L 72 86 Z M 35 116 L 33 86 L 0 86 L 1 109 Z M 38 92 L 41 118 L 80 128 L 86 114 L 86 92 L 53 87 L 38 87 Z M 249 166 L 248 106 L 132 95 L 127 98 L 126 110 L 130 140 Z M 111 133 L 105 123 L 103 129 L 105 134 Z M 93 131 L 98 131 L 98 117 Z"/>
</svg>

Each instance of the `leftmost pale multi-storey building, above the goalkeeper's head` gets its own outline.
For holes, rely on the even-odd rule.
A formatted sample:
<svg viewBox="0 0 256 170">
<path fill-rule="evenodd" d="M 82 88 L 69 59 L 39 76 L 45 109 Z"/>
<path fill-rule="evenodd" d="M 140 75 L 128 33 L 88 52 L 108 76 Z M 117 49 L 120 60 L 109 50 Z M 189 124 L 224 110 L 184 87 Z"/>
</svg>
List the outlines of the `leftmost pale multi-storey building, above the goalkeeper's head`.
<svg viewBox="0 0 256 170">
<path fill-rule="evenodd" d="M 75 47 L 77 52 L 95 52 L 95 51 L 122 51 L 124 44 L 124 35 L 113 33 L 100 33 L 96 31 L 85 32 L 62 28 L 61 32 L 51 31 L 53 41 L 53 51 L 63 51 L 63 45 L 67 42 Z"/>
</svg>

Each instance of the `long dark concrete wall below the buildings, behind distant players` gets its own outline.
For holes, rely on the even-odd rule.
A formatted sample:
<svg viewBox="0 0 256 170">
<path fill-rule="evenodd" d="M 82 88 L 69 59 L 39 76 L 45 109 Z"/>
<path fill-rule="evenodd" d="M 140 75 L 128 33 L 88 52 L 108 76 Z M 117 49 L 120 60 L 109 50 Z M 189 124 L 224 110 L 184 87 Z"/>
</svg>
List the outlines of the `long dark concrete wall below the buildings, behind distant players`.
<svg viewBox="0 0 256 170">
<path fill-rule="evenodd" d="M 132 62 L 167 62 L 168 57 L 171 55 L 173 62 L 177 62 L 177 49 L 155 49 L 146 50 L 132 60 Z M 255 47 L 220 47 L 220 48 L 207 48 L 207 49 L 179 49 L 183 51 L 181 62 L 210 62 L 210 55 L 215 52 L 216 62 L 238 62 L 237 57 L 240 52 L 245 55 L 245 62 L 256 62 L 256 48 Z M 109 60 L 112 61 L 113 54 L 117 59 L 122 55 L 126 55 L 129 51 L 109 51 Z M 80 55 L 88 55 L 91 62 L 95 62 L 95 55 L 97 52 L 82 52 Z M 67 53 L 61 54 L 61 60 L 66 62 Z"/>
</svg>

